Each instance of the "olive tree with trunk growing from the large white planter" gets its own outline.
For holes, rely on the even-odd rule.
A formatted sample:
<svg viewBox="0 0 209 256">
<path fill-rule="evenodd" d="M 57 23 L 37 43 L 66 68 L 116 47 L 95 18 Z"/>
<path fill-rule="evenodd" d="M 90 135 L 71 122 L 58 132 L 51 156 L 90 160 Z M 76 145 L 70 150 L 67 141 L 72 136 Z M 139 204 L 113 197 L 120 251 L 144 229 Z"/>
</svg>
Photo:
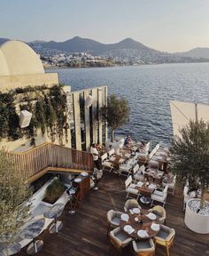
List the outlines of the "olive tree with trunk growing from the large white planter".
<svg viewBox="0 0 209 256">
<path fill-rule="evenodd" d="M 180 180 L 200 184 L 203 208 L 205 191 L 209 188 L 209 123 L 190 121 L 180 132 L 182 137 L 172 142 L 171 167 Z"/>
</svg>

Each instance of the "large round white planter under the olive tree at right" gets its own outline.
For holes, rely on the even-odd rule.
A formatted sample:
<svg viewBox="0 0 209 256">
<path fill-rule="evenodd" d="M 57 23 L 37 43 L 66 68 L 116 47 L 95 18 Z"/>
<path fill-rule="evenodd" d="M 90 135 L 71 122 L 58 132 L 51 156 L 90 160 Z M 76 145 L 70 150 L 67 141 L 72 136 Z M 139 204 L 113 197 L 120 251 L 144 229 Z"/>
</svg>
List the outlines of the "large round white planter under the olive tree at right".
<svg viewBox="0 0 209 256">
<path fill-rule="evenodd" d="M 200 199 L 192 198 L 187 202 L 184 222 L 190 230 L 199 234 L 209 234 L 209 214 L 200 214 L 190 209 L 191 202 L 199 202 Z M 206 202 L 209 204 L 208 202 Z"/>
</svg>

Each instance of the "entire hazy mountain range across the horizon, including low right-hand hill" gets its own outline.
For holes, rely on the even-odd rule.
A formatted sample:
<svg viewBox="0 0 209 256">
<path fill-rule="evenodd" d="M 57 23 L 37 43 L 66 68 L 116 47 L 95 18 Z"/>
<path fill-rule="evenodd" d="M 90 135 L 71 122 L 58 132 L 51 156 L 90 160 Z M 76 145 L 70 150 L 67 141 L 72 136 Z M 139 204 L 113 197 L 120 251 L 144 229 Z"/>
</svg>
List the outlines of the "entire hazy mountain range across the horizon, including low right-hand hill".
<svg viewBox="0 0 209 256">
<path fill-rule="evenodd" d="M 0 38 L 0 44 L 9 39 Z M 189 52 L 160 52 L 132 38 L 126 38 L 116 44 L 102 44 L 89 38 L 75 36 L 65 42 L 33 41 L 27 43 L 36 52 L 74 53 L 88 52 L 92 55 L 128 60 L 137 63 L 172 63 L 172 62 L 203 62 L 209 61 L 209 48 L 195 48 Z"/>
</svg>

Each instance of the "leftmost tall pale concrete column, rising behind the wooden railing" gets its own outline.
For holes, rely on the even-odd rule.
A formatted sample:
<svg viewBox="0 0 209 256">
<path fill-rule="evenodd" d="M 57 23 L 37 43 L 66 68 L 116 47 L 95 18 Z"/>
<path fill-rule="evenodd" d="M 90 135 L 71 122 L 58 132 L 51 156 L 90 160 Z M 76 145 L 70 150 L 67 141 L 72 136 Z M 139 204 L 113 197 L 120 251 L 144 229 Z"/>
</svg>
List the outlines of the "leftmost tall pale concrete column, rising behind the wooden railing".
<svg viewBox="0 0 209 256">
<path fill-rule="evenodd" d="M 81 150 L 81 114 L 80 114 L 80 93 L 74 92 L 74 135 L 75 148 Z"/>
</svg>

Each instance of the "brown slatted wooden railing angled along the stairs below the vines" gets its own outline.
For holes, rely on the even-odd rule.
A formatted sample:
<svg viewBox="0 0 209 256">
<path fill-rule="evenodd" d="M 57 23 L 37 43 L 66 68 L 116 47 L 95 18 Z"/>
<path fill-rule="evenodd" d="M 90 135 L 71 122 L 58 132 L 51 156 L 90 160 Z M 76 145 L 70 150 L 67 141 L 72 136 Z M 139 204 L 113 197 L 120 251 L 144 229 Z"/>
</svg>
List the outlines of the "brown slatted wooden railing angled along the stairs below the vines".
<svg viewBox="0 0 209 256">
<path fill-rule="evenodd" d="M 48 167 L 78 169 L 92 172 L 93 158 L 89 152 L 62 147 L 52 143 L 30 149 L 23 153 L 7 153 L 16 172 L 28 180 Z"/>
</svg>

